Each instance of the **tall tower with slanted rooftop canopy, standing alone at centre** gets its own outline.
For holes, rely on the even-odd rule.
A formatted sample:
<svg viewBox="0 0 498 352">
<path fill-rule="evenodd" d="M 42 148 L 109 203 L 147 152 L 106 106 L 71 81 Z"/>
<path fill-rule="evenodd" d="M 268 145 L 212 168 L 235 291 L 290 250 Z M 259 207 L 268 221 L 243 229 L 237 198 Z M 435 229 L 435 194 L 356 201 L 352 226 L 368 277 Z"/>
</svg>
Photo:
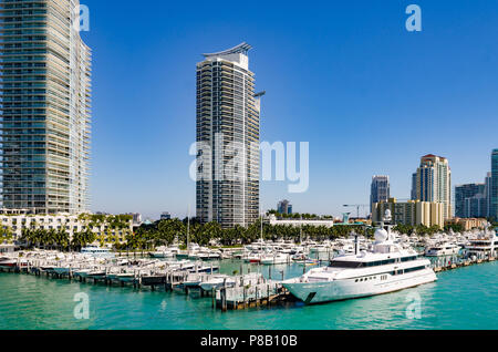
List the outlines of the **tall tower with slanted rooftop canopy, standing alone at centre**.
<svg viewBox="0 0 498 352">
<path fill-rule="evenodd" d="M 259 217 L 260 97 L 248 51 L 204 54 L 197 64 L 197 218 L 222 228 Z"/>
</svg>

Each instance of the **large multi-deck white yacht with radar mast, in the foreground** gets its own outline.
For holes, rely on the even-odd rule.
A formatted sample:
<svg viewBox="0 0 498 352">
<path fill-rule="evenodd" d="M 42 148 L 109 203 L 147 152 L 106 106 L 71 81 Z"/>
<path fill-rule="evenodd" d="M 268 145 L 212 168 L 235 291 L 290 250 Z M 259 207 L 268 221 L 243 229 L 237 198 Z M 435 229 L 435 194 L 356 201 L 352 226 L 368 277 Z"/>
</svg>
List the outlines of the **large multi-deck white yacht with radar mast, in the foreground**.
<svg viewBox="0 0 498 352">
<path fill-rule="evenodd" d="M 391 221 L 386 210 L 384 221 Z M 392 225 L 375 231 L 375 242 L 355 253 L 340 256 L 329 267 L 312 269 L 300 278 L 286 280 L 282 286 L 307 304 L 369 297 L 403 290 L 436 281 L 430 261 L 414 249 L 404 249 L 393 241 Z"/>
</svg>

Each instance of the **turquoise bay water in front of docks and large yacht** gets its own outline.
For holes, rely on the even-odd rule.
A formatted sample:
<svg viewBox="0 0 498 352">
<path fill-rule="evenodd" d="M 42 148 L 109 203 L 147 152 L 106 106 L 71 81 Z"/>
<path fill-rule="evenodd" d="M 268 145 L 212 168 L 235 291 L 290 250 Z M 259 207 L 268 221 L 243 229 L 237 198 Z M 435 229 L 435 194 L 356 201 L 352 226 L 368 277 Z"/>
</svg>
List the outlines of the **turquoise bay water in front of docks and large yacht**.
<svg viewBox="0 0 498 352">
<path fill-rule="evenodd" d="M 268 277 L 268 268 L 261 268 Z M 224 262 L 221 269 L 240 271 L 240 262 Z M 295 277 L 303 269 L 274 267 L 272 278 L 280 279 L 280 270 Z M 443 272 L 437 282 L 372 298 L 222 313 L 211 309 L 210 298 L 0 273 L 0 329 L 498 329 L 497 288 L 498 262 L 491 262 Z M 89 294 L 89 320 L 73 315 L 79 292 Z M 417 296 L 419 319 L 408 319 L 407 308 L 415 307 L 411 298 Z"/>
</svg>

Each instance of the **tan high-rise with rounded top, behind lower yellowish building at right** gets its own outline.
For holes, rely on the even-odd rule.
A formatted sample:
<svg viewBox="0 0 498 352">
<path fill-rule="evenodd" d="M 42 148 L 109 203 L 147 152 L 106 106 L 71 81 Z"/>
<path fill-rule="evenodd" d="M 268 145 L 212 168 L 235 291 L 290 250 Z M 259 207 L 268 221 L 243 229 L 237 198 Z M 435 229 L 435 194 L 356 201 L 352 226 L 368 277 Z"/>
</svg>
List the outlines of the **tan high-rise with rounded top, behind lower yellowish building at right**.
<svg viewBox="0 0 498 352">
<path fill-rule="evenodd" d="M 452 217 L 452 170 L 447 158 L 433 154 L 421 158 L 416 197 L 422 201 L 443 203 L 444 219 Z"/>
</svg>

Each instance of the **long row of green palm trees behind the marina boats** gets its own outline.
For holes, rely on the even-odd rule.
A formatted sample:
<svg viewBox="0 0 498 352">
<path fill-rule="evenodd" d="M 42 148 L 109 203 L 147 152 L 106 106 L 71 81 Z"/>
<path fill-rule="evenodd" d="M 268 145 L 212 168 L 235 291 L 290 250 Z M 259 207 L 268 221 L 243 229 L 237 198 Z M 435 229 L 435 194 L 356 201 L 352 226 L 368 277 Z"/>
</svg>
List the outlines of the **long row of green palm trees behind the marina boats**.
<svg viewBox="0 0 498 352">
<path fill-rule="evenodd" d="M 338 225 L 331 228 L 315 226 L 271 226 L 263 224 L 261 234 L 261 222 L 257 221 L 248 228 L 236 226 L 224 229 L 218 222 L 199 224 L 195 219 L 190 220 L 187 231 L 188 219 L 169 219 L 156 221 L 152 225 L 143 225 L 136 231 L 125 231 L 124 237 L 118 237 L 115 231 L 103 231 L 95 234 L 90 229 L 75 232 L 72 237 L 64 230 L 55 229 L 22 229 L 22 236 L 19 242 L 28 248 L 48 248 L 59 250 L 81 250 L 81 248 L 91 245 L 112 244 L 118 250 L 144 250 L 153 249 L 158 246 L 169 246 L 173 242 L 186 245 L 196 242 L 200 246 L 208 246 L 212 241 L 222 246 L 247 245 L 262 238 L 264 240 L 293 240 L 300 242 L 304 239 L 324 240 L 347 237 L 352 231 L 361 235 L 373 235 L 372 229 L 365 229 L 362 226 L 342 226 Z M 9 231 L 1 235 L 0 240 L 7 240 Z M 188 232 L 188 236 L 187 236 Z M 3 232 L 0 232 L 3 234 Z"/>
</svg>

